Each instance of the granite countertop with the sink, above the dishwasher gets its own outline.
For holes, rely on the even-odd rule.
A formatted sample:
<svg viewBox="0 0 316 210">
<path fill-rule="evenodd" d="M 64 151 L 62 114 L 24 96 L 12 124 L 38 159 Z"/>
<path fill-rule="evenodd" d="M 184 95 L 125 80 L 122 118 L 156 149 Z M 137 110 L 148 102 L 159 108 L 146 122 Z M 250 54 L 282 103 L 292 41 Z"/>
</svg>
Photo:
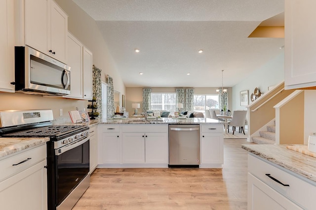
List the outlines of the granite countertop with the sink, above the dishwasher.
<svg viewBox="0 0 316 210">
<path fill-rule="evenodd" d="M 147 120 L 145 118 L 111 118 L 100 122 L 100 124 L 223 124 L 223 121 L 197 117 L 185 119 L 161 117 Z"/>
</svg>

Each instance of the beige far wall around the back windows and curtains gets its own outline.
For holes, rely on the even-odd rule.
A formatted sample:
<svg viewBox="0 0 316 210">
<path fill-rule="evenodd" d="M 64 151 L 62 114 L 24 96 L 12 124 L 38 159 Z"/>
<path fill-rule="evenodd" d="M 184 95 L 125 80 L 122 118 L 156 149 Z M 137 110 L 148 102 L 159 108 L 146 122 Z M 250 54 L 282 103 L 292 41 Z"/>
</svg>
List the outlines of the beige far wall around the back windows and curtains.
<svg viewBox="0 0 316 210">
<path fill-rule="evenodd" d="M 194 88 L 195 94 L 216 94 L 217 88 L 210 88 L 210 87 L 200 87 Z M 232 88 L 228 89 L 228 101 L 229 101 L 229 108 L 232 107 Z M 175 93 L 175 88 L 173 87 L 153 87 L 152 93 Z M 143 87 L 126 87 L 126 111 L 129 114 L 134 113 L 134 109 L 132 108 L 132 103 L 140 103 L 140 108 L 138 112 L 143 110 Z"/>
</svg>

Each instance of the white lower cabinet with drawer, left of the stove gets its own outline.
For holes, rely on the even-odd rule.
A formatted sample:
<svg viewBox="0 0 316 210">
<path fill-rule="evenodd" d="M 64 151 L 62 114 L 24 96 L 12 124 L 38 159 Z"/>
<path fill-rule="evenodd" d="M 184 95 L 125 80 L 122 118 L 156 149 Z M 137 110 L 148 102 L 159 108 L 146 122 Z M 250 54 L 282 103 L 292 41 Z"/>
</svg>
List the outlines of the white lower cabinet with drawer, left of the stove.
<svg viewBox="0 0 316 210">
<path fill-rule="evenodd" d="M 20 164 L 12 166 L 17 163 Z M 1 160 L 0 171 L 6 174 L 0 179 L 0 209 L 47 210 L 45 166 L 46 144 Z"/>
</svg>

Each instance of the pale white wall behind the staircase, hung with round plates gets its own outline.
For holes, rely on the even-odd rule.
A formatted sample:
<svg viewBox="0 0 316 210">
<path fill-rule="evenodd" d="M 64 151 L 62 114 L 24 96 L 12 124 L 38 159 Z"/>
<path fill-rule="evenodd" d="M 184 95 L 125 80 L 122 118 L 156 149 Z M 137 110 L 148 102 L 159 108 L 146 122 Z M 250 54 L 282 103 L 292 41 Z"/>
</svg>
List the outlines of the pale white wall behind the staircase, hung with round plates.
<svg viewBox="0 0 316 210">
<path fill-rule="evenodd" d="M 246 106 L 240 106 L 240 91 L 248 90 L 248 101 L 254 89 L 258 87 L 261 93 L 268 91 L 269 86 L 274 86 L 284 80 L 284 51 L 277 57 L 264 64 L 262 67 L 245 75 L 243 81 L 233 87 L 233 110 L 246 110 Z"/>
</svg>

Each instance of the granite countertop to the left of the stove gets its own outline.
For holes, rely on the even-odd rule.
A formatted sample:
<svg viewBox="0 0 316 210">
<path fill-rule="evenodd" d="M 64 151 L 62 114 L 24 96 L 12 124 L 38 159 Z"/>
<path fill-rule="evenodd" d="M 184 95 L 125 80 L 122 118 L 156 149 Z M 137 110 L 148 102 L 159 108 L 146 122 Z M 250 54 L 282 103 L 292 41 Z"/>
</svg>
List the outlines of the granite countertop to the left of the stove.
<svg viewBox="0 0 316 210">
<path fill-rule="evenodd" d="M 49 141 L 49 138 L 0 138 L 0 158 Z"/>
</svg>

